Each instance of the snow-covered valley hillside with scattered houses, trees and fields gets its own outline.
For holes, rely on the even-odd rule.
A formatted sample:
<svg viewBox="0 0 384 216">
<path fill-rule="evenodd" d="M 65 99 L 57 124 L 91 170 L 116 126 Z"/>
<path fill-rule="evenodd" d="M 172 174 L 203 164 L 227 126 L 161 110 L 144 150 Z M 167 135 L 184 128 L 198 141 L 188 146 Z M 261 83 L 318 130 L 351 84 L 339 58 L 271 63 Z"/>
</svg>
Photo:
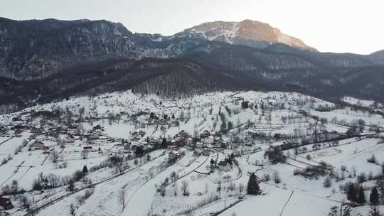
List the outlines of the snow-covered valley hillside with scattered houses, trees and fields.
<svg viewBox="0 0 384 216">
<path fill-rule="evenodd" d="M 0 116 L 1 197 L 15 216 L 368 215 L 384 210 L 384 119 L 366 107 L 254 91 L 39 104 Z"/>
</svg>

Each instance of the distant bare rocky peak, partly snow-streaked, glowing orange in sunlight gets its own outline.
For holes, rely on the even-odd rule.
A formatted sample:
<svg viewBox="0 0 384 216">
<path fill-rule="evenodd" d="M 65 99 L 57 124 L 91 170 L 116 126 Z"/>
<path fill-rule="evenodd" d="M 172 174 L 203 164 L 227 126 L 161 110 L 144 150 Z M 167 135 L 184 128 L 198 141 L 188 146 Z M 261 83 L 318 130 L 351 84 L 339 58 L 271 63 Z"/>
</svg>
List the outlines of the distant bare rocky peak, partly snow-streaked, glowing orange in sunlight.
<svg viewBox="0 0 384 216">
<path fill-rule="evenodd" d="M 284 43 L 294 48 L 315 50 L 306 45 L 299 38 L 288 36 L 279 31 L 279 29 L 259 21 L 214 21 L 202 23 L 178 33 L 178 36 L 193 34 L 200 35 L 210 41 L 249 45 L 255 48 L 266 48 L 272 43 Z"/>
</svg>

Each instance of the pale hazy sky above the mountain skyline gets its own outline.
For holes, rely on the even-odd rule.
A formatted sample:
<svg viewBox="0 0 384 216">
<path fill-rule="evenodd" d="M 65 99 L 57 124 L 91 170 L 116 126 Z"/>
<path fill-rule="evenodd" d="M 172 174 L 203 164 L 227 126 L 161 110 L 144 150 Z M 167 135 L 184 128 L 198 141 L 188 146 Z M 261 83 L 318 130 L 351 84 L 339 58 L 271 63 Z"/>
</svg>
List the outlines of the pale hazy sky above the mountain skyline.
<svg viewBox="0 0 384 216">
<path fill-rule="evenodd" d="M 383 0 L 0 0 L 16 20 L 105 19 L 130 31 L 171 35 L 206 21 L 269 23 L 322 52 L 384 49 Z"/>
</svg>

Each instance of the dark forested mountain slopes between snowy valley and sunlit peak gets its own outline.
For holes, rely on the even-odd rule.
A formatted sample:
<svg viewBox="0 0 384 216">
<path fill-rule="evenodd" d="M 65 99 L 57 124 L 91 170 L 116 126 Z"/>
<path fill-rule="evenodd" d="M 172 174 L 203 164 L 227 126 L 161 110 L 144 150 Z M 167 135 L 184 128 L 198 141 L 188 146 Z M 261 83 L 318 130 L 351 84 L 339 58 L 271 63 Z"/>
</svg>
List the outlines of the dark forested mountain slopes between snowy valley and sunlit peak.
<svg viewBox="0 0 384 216">
<path fill-rule="evenodd" d="M 296 91 L 333 101 L 343 96 L 383 100 L 380 52 L 265 45 L 208 40 L 190 31 L 132 33 L 104 20 L 0 18 L 0 109 L 129 88 L 164 97 L 227 88 Z"/>
</svg>

